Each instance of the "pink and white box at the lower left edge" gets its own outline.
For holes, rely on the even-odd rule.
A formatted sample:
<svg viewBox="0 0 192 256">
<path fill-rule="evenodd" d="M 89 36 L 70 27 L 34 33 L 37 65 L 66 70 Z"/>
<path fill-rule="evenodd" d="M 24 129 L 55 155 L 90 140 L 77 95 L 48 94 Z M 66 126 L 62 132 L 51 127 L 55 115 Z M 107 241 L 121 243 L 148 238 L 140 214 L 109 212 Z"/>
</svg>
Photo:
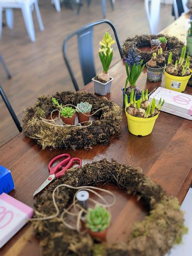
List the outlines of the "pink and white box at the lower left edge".
<svg viewBox="0 0 192 256">
<path fill-rule="evenodd" d="M 0 195 L 0 248 L 6 244 L 33 215 L 33 209 L 10 195 Z"/>
</svg>

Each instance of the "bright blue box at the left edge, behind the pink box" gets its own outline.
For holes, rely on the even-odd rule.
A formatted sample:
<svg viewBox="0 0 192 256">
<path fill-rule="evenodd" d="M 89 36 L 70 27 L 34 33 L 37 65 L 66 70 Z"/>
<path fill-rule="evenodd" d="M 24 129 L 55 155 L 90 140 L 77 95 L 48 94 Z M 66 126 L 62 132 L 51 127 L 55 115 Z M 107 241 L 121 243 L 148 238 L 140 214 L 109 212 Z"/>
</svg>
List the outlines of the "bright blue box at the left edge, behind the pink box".
<svg viewBox="0 0 192 256">
<path fill-rule="evenodd" d="M 0 194 L 8 194 L 15 188 L 11 172 L 3 166 L 0 166 Z"/>
</svg>

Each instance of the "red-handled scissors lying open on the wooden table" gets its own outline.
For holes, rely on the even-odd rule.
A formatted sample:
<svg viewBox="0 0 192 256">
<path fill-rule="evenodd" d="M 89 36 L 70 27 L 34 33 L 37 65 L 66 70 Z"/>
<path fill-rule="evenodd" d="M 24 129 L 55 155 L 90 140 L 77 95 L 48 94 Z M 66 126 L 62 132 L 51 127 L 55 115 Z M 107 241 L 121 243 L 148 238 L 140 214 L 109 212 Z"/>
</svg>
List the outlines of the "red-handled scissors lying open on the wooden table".
<svg viewBox="0 0 192 256">
<path fill-rule="evenodd" d="M 52 164 L 58 160 L 61 157 L 67 157 L 58 164 L 56 164 L 54 167 L 51 167 Z M 49 183 L 51 183 L 53 180 L 57 179 L 60 176 L 63 176 L 65 174 L 65 171 L 70 169 L 73 166 L 74 162 L 79 162 L 79 168 L 81 168 L 81 159 L 78 157 L 71 158 L 69 154 L 60 154 L 57 157 L 54 157 L 48 165 L 49 168 L 49 177 L 44 181 L 44 183 L 41 184 L 41 186 L 38 187 L 38 189 L 34 192 L 33 196 L 37 195 L 41 190 L 43 190 Z M 66 166 L 64 166 L 67 164 Z"/>
</svg>

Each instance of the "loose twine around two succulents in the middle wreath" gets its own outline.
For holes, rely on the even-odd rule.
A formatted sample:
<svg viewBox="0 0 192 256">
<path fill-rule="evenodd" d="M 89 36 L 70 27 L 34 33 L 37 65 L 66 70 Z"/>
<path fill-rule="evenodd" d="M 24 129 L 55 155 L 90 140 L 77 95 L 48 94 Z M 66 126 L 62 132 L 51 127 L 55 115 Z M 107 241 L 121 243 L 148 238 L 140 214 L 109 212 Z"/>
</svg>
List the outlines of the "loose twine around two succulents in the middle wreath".
<svg viewBox="0 0 192 256">
<path fill-rule="evenodd" d="M 64 107 L 66 107 L 66 106 L 73 106 L 73 107 L 76 108 L 76 106 L 74 106 L 74 105 L 72 105 L 72 104 L 67 104 L 67 105 L 62 106 L 62 107 L 60 108 L 60 110 L 54 109 L 54 110 L 51 112 L 51 120 L 50 120 L 50 119 L 44 119 L 44 118 L 40 117 L 41 120 L 42 120 L 42 122 L 44 122 L 44 123 L 46 123 L 46 124 L 48 124 L 48 125 L 53 125 L 53 126 L 58 126 L 58 127 L 87 128 L 87 127 L 89 127 L 90 125 L 92 125 L 93 121 L 84 121 L 84 122 L 79 123 L 80 125 L 81 125 L 82 123 L 87 123 L 87 122 L 90 123 L 89 125 L 84 125 L 84 126 L 65 124 L 65 123 L 63 122 L 63 120 L 61 120 L 61 114 L 60 114 L 60 113 L 61 113 L 61 109 L 64 108 Z M 93 116 L 93 115 L 96 114 L 98 111 L 100 111 L 100 110 L 102 110 L 102 109 L 105 109 L 105 108 L 109 108 L 109 107 L 99 108 L 97 111 L 95 111 L 95 112 L 94 112 L 93 114 L 91 114 L 91 115 L 86 115 L 86 114 L 83 113 L 80 109 L 79 109 L 79 111 L 80 111 L 80 113 L 84 114 L 84 116 Z M 58 111 L 58 112 L 59 112 L 58 117 L 55 118 L 55 119 L 52 118 L 52 113 L 53 113 L 54 111 Z M 64 125 L 57 125 L 56 122 L 55 122 L 55 120 L 57 120 L 57 119 L 59 119 Z M 50 122 L 53 122 L 53 123 L 50 123 Z"/>
</svg>

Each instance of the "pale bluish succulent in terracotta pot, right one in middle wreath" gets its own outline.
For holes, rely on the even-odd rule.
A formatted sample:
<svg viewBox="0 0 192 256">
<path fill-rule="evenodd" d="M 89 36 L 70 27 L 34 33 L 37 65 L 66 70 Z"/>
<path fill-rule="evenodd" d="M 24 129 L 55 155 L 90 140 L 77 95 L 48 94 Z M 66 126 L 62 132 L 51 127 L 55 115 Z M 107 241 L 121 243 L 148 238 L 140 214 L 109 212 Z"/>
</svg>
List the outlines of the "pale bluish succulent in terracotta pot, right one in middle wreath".
<svg viewBox="0 0 192 256">
<path fill-rule="evenodd" d="M 89 121 L 91 108 L 92 104 L 89 104 L 88 102 L 81 102 L 77 104 L 76 112 L 79 123 Z"/>
</svg>

